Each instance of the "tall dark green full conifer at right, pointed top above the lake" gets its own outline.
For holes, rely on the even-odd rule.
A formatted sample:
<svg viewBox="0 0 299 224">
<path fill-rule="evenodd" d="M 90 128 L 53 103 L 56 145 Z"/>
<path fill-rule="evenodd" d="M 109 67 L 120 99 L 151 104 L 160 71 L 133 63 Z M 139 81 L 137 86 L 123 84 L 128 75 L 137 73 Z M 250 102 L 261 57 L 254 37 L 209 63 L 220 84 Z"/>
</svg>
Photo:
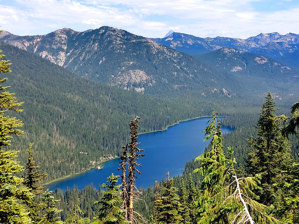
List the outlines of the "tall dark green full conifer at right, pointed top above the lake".
<svg viewBox="0 0 299 224">
<path fill-rule="evenodd" d="M 259 202 L 277 206 L 283 198 L 283 192 L 274 184 L 284 181 L 281 171 L 287 170 L 291 165 L 291 148 L 282 135 L 282 127 L 274 114 L 277 109 L 271 93 L 268 92 L 265 98 L 260 119 L 255 126 L 258 130 L 257 138 L 248 139 L 251 151 L 247 158 L 247 172 L 261 178 L 262 191 L 257 192 Z"/>
</svg>

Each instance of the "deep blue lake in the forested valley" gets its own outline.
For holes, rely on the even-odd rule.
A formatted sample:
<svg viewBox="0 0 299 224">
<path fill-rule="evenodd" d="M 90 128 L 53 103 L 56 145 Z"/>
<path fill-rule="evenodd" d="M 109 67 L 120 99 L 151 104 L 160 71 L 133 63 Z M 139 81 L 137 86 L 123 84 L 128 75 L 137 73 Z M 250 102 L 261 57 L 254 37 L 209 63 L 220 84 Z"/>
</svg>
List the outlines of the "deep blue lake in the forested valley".
<svg viewBox="0 0 299 224">
<path fill-rule="evenodd" d="M 139 188 L 154 185 L 155 180 L 166 177 L 166 172 L 170 172 L 170 177 L 183 174 L 186 162 L 202 154 L 209 141 L 203 142 L 204 133 L 202 130 L 207 126 L 210 117 L 202 117 L 188 121 L 179 122 L 168 127 L 164 131 L 155 131 L 138 135 L 139 148 L 144 149 L 144 157 L 140 157 L 142 166 L 139 169 L 141 175 L 136 180 Z M 128 127 L 129 128 L 129 127 Z M 129 129 L 128 129 L 129 130 Z M 232 129 L 222 126 L 222 133 L 231 132 Z M 77 185 L 79 189 L 91 183 L 95 188 L 106 182 L 106 178 L 114 173 L 121 176 L 121 171 L 117 168 L 120 159 L 113 159 L 103 163 L 102 169 L 91 169 L 81 174 L 52 182 L 46 189 L 55 190 L 66 187 L 73 188 Z M 120 182 L 119 182 L 120 183 Z"/>
</svg>

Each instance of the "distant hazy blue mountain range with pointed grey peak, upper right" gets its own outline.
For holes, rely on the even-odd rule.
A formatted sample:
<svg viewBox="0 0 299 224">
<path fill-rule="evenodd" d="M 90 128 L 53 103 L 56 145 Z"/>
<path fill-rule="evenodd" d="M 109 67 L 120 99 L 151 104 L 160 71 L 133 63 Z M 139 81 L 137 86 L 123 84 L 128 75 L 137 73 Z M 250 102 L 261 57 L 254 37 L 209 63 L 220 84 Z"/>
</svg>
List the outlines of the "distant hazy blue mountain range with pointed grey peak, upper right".
<svg viewBox="0 0 299 224">
<path fill-rule="evenodd" d="M 222 47 L 272 57 L 291 67 L 299 66 L 299 35 L 287 33 L 260 33 L 247 39 L 220 37 L 201 38 L 185 33 L 170 32 L 164 38 L 153 39 L 157 43 L 172 47 L 190 55 L 202 55 Z"/>
</svg>

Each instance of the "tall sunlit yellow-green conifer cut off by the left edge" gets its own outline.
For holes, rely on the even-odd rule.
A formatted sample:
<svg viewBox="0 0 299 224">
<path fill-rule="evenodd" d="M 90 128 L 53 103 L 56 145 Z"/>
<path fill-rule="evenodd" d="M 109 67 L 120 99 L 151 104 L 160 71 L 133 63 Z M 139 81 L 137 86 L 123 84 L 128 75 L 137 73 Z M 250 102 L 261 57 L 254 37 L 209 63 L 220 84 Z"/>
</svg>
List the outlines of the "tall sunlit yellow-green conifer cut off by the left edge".
<svg viewBox="0 0 299 224">
<path fill-rule="evenodd" d="M 2 57 L 4 55 L 0 54 L 0 58 Z M 0 74 L 10 72 L 9 66 L 9 61 L 0 60 Z M 0 84 L 6 80 L 7 78 L 0 78 Z M 25 202 L 32 201 L 33 195 L 23 186 L 23 179 L 15 175 L 23 171 L 16 160 L 18 151 L 4 151 L 4 147 L 10 145 L 11 135 L 19 136 L 24 133 L 18 129 L 23 126 L 22 121 L 6 115 L 7 110 L 21 112 L 18 107 L 23 104 L 17 102 L 14 93 L 3 91 L 7 88 L 9 86 L 0 85 L 0 223 L 30 224 L 32 220 Z"/>
</svg>

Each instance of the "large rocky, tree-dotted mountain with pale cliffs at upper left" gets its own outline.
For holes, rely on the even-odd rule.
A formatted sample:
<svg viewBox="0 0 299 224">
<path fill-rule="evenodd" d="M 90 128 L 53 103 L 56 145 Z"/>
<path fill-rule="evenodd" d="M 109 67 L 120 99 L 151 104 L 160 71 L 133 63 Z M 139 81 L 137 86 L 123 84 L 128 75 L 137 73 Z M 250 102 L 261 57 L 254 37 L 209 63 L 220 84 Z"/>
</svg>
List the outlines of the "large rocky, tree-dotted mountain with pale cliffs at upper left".
<svg viewBox="0 0 299 224">
<path fill-rule="evenodd" d="M 141 93 L 162 86 L 173 90 L 177 89 L 174 86 L 198 86 L 204 81 L 205 69 L 192 57 L 113 27 L 84 32 L 64 28 L 38 36 L 4 33 L 0 41 L 38 54 L 79 76 Z"/>
</svg>

